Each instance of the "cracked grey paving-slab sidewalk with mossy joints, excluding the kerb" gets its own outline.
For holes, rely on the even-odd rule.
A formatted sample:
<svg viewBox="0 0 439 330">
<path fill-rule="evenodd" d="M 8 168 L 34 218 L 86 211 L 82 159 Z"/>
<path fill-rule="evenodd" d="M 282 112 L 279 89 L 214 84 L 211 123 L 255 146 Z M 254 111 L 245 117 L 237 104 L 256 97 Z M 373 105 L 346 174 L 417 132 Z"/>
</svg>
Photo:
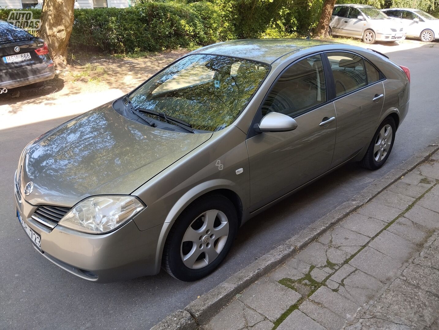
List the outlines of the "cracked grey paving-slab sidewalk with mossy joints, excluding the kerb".
<svg viewBox="0 0 439 330">
<path fill-rule="evenodd" d="M 439 152 L 200 329 L 439 329 L 438 183 Z"/>
</svg>

